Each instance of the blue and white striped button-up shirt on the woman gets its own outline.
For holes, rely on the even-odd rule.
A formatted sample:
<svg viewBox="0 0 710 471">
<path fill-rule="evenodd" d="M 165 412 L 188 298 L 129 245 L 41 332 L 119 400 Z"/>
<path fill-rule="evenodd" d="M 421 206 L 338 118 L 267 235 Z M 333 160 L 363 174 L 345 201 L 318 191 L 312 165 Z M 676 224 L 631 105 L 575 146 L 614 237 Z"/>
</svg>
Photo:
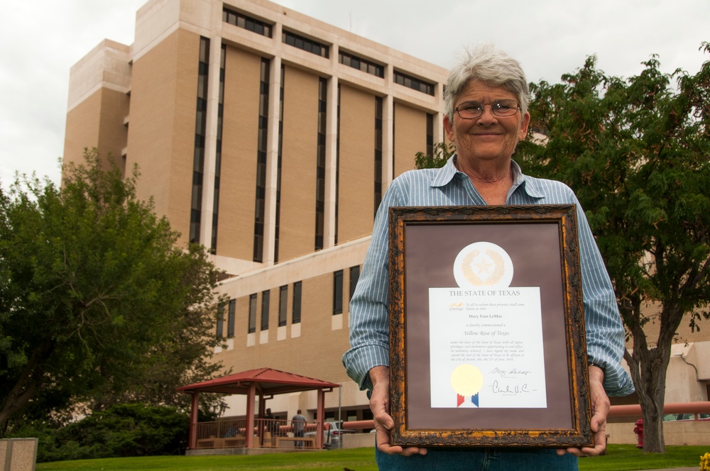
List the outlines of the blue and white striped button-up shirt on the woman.
<svg viewBox="0 0 710 471">
<path fill-rule="evenodd" d="M 473 206 L 486 201 L 466 174 L 454 165 L 455 156 L 440 169 L 413 170 L 393 180 L 375 217 L 372 240 L 363 271 L 350 301 L 350 345 L 343 355 L 348 375 L 360 389 L 372 389 L 369 370 L 389 366 L 388 332 L 388 209 L 391 206 Z M 528 177 L 512 162 L 513 186 L 506 204 L 576 204 L 581 259 L 587 355 L 604 370 L 609 396 L 633 392 L 628 372 L 621 367 L 624 328 L 611 280 L 572 189 L 562 182 Z"/>
</svg>

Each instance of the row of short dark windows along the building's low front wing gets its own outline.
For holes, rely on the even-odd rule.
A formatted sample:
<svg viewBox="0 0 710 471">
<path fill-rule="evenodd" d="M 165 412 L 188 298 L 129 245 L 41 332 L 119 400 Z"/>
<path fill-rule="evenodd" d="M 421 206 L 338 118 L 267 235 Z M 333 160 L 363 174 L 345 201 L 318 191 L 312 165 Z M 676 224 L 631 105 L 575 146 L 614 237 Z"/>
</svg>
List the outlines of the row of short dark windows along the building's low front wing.
<svg viewBox="0 0 710 471">
<path fill-rule="evenodd" d="M 343 313 L 343 270 L 338 270 L 333 273 L 333 314 Z M 360 278 L 360 266 L 355 265 L 349 269 L 350 289 L 348 301 L 352 298 L 358 279 Z M 295 282 L 292 285 L 292 308 L 291 308 L 291 323 L 300 323 L 301 321 L 301 291 L 302 282 Z M 226 336 L 227 338 L 234 337 L 234 326 L 236 323 L 236 299 L 231 299 L 226 304 L 220 304 L 217 307 L 217 338 L 224 338 L 224 311 L 227 308 L 226 316 Z M 268 330 L 269 327 L 269 311 L 271 308 L 271 290 L 266 289 L 261 292 L 261 331 Z M 258 296 L 256 293 L 249 295 L 249 318 L 247 331 L 249 333 L 256 332 L 256 320 L 258 314 Z M 286 325 L 288 318 L 288 284 L 285 284 L 278 289 L 278 326 Z"/>
</svg>

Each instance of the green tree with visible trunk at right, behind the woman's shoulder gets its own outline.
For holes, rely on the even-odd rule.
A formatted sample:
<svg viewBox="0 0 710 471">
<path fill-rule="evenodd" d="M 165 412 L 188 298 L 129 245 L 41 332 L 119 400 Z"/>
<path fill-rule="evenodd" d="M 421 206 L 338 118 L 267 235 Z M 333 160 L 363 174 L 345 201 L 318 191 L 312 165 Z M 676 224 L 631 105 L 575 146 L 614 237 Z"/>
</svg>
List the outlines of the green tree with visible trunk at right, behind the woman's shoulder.
<svg viewBox="0 0 710 471">
<path fill-rule="evenodd" d="M 528 174 L 569 184 L 586 211 L 632 340 L 624 357 L 644 451 L 663 453 L 675 333 L 709 318 L 710 62 L 694 75 L 662 73 L 655 56 L 643 65 L 638 76 L 609 77 L 589 57 L 560 84 L 532 84 L 532 132 L 518 159 Z"/>
</svg>

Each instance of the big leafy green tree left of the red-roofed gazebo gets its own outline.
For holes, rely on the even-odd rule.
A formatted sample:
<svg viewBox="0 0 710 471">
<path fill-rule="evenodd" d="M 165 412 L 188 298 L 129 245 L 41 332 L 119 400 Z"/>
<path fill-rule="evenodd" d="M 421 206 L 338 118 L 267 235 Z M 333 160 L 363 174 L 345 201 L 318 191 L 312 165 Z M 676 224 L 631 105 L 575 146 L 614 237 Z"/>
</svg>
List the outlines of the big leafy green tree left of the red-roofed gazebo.
<svg viewBox="0 0 710 471">
<path fill-rule="evenodd" d="M 0 433 L 117 401 L 180 404 L 208 379 L 217 270 L 97 152 L 62 187 L 0 188 Z M 72 409 L 74 408 L 74 409 Z"/>
</svg>

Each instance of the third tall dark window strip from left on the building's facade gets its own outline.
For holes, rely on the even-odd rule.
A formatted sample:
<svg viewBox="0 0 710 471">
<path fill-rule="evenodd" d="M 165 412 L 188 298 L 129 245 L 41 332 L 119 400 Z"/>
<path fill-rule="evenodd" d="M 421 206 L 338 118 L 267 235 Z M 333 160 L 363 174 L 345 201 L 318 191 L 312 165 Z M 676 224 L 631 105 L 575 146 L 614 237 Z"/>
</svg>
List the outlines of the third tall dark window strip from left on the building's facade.
<svg viewBox="0 0 710 471">
<path fill-rule="evenodd" d="M 254 204 L 254 262 L 263 262 L 266 223 L 266 145 L 268 143 L 268 89 L 271 63 L 261 59 L 261 96 L 259 97 L 258 143 L 256 150 L 256 202 Z"/>
</svg>

